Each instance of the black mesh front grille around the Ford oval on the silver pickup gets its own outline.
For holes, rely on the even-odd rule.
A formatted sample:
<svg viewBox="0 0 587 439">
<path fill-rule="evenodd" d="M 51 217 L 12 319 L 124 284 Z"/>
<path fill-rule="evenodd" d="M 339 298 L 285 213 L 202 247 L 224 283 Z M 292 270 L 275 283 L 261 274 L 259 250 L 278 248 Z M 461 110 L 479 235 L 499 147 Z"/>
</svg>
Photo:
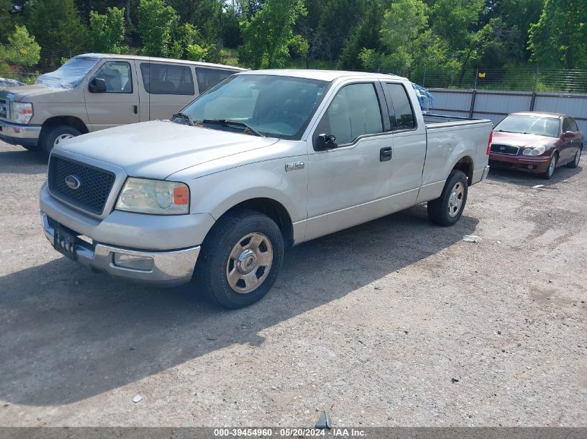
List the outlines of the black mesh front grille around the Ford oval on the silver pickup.
<svg viewBox="0 0 587 439">
<path fill-rule="evenodd" d="M 67 185 L 69 182 L 79 182 L 74 189 Z M 74 177 L 72 179 L 71 177 Z M 115 175 L 104 169 L 97 169 L 87 164 L 72 162 L 53 155 L 49 162 L 47 182 L 49 191 L 67 203 L 81 207 L 92 214 L 100 215 L 104 212 L 104 205 L 114 184 Z M 75 186 L 75 184 L 72 184 Z"/>
</svg>

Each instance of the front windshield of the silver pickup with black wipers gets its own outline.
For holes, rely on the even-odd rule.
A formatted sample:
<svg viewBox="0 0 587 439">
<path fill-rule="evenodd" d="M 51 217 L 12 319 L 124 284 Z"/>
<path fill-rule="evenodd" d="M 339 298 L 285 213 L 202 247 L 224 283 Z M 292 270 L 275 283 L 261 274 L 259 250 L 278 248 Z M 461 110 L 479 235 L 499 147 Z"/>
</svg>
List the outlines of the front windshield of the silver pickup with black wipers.
<svg viewBox="0 0 587 439">
<path fill-rule="evenodd" d="M 249 127 L 261 135 L 299 140 L 328 84 L 290 76 L 231 76 L 198 96 L 182 112 L 207 128 Z"/>
</svg>

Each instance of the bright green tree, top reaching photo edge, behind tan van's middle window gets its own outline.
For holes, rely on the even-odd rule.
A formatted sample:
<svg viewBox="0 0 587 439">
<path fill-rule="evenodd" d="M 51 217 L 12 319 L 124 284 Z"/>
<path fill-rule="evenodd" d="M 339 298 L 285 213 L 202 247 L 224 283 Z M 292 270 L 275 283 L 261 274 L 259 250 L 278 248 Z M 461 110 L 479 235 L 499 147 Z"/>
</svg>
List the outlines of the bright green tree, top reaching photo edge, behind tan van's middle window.
<svg viewBox="0 0 587 439">
<path fill-rule="evenodd" d="M 142 54 L 167 56 L 170 53 L 172 32 L 178 16 L 163 0 L 141 0 L 138 8 L 138 31 L 142 40 Z"/>
</svg>

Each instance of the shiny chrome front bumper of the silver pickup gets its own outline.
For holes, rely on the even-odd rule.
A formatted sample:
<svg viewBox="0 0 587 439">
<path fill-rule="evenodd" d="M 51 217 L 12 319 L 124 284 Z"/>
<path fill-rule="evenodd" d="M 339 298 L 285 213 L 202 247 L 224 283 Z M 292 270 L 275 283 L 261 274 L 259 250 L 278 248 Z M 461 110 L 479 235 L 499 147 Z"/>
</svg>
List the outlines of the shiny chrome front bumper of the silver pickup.
<svg viewBox="0 0 587 439">
<path fill-rule="evenodd" d="M 44 234 L 53 244 L 55 229 L 49 224 L 49 217 L 44 212 L 41 212 L 41 219 Z M 161 286 L 176 286 L 185 284 L 192 278 L 200 246 L 171 251 L 129 250 L 101 243 L 90 244 L 80 240 L 76 242 L 74 252 L 80 264 L 104 271 L 114 277 L 124 277 Z M 116 265 L 115 254 L 151 258 L 153 267 L 146 270 Z"/>
</svg>

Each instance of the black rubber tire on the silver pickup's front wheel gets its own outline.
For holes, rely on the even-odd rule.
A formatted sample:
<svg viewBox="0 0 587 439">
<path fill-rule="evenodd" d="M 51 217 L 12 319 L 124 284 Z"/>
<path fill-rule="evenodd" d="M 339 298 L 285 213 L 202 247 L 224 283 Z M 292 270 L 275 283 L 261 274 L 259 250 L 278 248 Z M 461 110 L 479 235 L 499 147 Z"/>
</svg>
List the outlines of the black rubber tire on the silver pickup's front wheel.
<svg viewBox="0 0 587 439">
<path fill-rule="evenodd" d="M 234 258 L 229 260 L 229 257 L 237 245 L 244 249 L 240 255 L 247 251 L 247 246 L 251 245 L 251 241 L 249 239 L 249 243 L 246 243 L 246 237 L 251 234 L 261 236 L 261 239 L 268 239 L 270 246 L 267 246 L 267 241 L 263 241 L 261 246 L 258 246 L 253 270 L 247 273 L 247 275 L 254 275 L 257 279 L 261 279 L 261 283 L 250 292 L 239 293 L 233 289 L 229 282 L 229 270 L 236 276 L 245 277 L 240 271 L 237 271 L 240 270 L 238 267 L 242 265 L 235 264 L 241 264 L 241 262 L 245 264 L 247 259 L 239 262 Z M 263 251 L 261 250 L 263 246 L 265 246 L 265 252 L 271 252 L 270 256 L 267 256 L 271 260 L 267 274 L 265 274 L 267 267 L 258 266 L 256 268 L 257 256 L 261 257 L 259 252 Z M 248 249 L 249 252 L 251 248 Z M 237 250 L 237 253 L 239 251 Z M 246 307 L 261 300 L 275 283 L 283 262 L 283 251 L 281 230 L 271 218 L 253 210 L 243 209 L 229 212 L 217 221 L 204 239 L 196 264 L 195 284 L 199 286 L 199 289 L 205 291 L 213 302 L 223 307 L 231 309 Z M 247 269 L 245 266 L 242 268 Z M 262 268 L 263 270 L 261 270 Z M 245 282 L 245 280 L 239 279 L 238 282 L 242 283 L 240 285 L 237 283 L 235 288 L 242 287 L 245 291 L 248 287 L 246 282 L 249 281 Z"/>
</svg>

